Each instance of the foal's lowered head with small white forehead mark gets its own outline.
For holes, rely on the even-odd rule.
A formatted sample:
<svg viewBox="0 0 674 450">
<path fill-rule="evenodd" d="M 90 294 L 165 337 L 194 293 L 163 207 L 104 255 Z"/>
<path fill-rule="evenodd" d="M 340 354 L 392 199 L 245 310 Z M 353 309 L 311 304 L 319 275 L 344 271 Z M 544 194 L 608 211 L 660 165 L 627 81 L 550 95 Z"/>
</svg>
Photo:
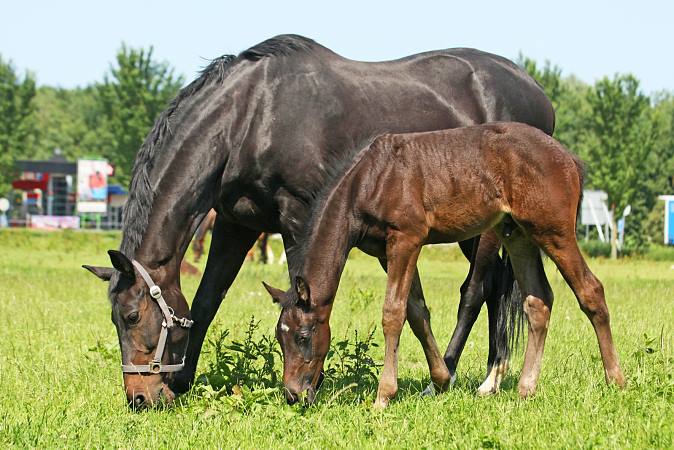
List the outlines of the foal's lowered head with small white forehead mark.
<svg viewBox="0 0 674 450">
<path fill-rule="evenodd" d="M 332 302 L 312 302 L 309 285 L 299 276 L 287 292 L 263 284 L 282 308 L 276 324 L 276 339 L 283 352 L 286 400 L 293 404 L 306 392 L 305 401 L 313 403 L 323 382 L 323 363 L 330 349 Z"/>
</svg>

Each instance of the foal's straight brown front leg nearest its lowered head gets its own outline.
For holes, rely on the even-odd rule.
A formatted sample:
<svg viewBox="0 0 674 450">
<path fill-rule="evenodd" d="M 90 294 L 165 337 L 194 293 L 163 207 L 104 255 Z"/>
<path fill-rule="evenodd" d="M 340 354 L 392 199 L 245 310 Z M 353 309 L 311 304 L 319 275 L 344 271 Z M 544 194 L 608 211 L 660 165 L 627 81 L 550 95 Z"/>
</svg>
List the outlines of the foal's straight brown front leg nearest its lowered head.
<svg viewBox="0 0 674 450">
<path fill-rule="evenodd" d="M 420 251 L 421 243 L 402 233 L 392 233 L 387 239 L 388 281 L 382 317 L 385 355 L 375 408 L 385 408 L 398 392 L 398 345 L 407 315 L 407 296 Z"/>
</svg>

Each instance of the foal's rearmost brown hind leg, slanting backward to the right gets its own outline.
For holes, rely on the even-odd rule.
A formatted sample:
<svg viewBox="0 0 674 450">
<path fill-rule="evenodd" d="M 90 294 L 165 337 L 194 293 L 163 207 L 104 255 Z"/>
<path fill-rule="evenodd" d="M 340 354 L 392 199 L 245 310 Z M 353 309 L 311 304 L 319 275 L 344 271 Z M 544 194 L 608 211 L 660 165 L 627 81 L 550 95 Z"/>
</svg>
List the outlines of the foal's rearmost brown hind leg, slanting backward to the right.
<svg viewBox="0 0 674 450">
<path fill-rule="evenodd" d="M 599 341 L 606 382 L 623 387 L 625 377 L 620 369 L 618 353 L 613 344 L 604 287 L 590 271 L 581 255 L 575 233 L 534 236 L 534 239 L 555 262 L 576 295 L 580 308 L 590 319 Z"/>
</svg>

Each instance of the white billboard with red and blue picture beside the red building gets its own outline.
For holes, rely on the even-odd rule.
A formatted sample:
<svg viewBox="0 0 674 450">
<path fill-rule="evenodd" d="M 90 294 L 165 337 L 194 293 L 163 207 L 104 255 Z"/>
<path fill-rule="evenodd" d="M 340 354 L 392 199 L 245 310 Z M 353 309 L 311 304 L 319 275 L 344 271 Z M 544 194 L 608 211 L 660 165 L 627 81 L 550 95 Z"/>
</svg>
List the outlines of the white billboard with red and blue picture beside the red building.
<svg viewBox="0 0 674 450">
<path fill-rule="evenodd" d="M 108 162 L 102 159 L 77 161 L 77 212 L 104 213 L 108 210 Z"/>
</svg>

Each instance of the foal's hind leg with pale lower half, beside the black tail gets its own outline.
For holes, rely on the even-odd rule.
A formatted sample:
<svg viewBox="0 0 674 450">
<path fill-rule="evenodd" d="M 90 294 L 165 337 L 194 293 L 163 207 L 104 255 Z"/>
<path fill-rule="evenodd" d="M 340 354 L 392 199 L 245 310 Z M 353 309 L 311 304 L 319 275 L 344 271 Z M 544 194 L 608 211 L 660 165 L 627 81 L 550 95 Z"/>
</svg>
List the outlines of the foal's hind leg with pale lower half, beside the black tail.
<svg viewBox="0 0 674 450">
<path fill-rule="evenodd" d="M 536 383 L 541 372 L 543 348 L 554 297 L 545 276 L 540 251 L 534 243 L 518 230 L 511 238 L 505 239 L 504 245 L 510 255 L 515 278 L 524 298 L 524 313 L 529 326 L 524 366 L 519 381 L 520 395 L 528 397 L 536 391 Z"/>
</svg>

